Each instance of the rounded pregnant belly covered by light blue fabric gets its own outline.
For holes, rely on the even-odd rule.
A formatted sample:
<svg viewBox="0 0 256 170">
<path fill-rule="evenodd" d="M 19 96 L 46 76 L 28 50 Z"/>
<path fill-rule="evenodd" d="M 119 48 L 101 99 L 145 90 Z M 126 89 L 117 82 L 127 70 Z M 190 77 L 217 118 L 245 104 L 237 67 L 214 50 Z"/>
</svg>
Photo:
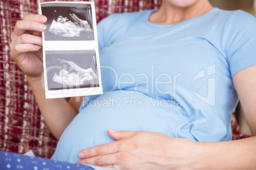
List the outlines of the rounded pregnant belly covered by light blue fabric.
<svg viewBox="0 0 256 170">
<path fill-rule="evenodd" d="M 107 130 L 153 131 L 176 137 L 176 127 L 186 121 L 184 110 L 170 101 L 146 95 L 113 91 L 90 101 L 62 134 L 53 160 L 76 163 L 78 152 L 114 141 Z"/>
</svg>

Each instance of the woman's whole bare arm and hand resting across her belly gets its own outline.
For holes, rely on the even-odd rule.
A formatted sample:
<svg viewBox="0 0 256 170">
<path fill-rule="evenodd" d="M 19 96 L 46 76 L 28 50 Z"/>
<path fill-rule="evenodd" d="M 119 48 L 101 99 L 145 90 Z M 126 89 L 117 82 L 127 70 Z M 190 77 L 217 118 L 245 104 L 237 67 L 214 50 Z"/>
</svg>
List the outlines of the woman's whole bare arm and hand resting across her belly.
<svg viewBox="0 0 256 170">
<path fill-rule="evenodd" d="M 253 137 L 236 141 L 195 142 L 145 131 L 108 131 L 114 142 L 82 150 L 78 163 L 117 169 L 255 169 L 256 65 L 233 81 Z"/>
</svg>

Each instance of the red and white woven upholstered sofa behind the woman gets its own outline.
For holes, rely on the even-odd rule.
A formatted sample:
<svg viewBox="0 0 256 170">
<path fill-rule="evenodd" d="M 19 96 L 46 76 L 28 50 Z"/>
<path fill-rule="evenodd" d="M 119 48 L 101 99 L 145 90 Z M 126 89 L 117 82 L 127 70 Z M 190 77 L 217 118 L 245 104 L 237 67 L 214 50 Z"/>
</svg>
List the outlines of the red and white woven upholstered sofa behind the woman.
<svg viewBox="0 0 256 170">
<path fill-rule="evenodd" d="M 24 74 L 10 56 L 10 35 L 24 15 L 38 13 L 40 0 L 1 0 L 0 3 L 0 150 L 24 154 L 33 150 L 50 158 L 57 140 L 46 127 Z M 44 2 L 41 0 L 41 2 Z M 96 0 L 97 22 L 111 13 L 156 9 L 160 0 Z M 244 138 L 232 119 L 233 140 Z"/>
</svg>

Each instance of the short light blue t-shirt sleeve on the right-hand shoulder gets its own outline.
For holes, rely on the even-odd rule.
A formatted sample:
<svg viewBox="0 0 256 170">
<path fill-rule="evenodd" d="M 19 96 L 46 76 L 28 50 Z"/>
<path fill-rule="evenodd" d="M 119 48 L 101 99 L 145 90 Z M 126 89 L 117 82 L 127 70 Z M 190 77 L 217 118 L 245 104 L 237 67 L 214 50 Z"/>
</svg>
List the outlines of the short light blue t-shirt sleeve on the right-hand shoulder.
<svg viewBox="0 0 256 170">
<path fill-rule="evenodd" d="M 245 11 L 232 13 L 224 28 L 223 43 L 233 76 L 256 64 L 256 18 Z"/>
</svg>

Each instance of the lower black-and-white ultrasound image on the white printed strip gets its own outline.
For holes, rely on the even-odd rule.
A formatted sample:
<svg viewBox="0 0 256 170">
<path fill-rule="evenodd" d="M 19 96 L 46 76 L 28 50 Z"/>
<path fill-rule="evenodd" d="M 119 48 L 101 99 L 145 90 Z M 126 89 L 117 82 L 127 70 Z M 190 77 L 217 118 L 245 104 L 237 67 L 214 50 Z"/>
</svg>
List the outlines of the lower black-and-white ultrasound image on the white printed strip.
<svg viewBox="0 0 256 170">
<path fill-rule="evenodd" d="M 45 51 L 48 90 L 99 87 L 95 50 Z"/>
</svg>

